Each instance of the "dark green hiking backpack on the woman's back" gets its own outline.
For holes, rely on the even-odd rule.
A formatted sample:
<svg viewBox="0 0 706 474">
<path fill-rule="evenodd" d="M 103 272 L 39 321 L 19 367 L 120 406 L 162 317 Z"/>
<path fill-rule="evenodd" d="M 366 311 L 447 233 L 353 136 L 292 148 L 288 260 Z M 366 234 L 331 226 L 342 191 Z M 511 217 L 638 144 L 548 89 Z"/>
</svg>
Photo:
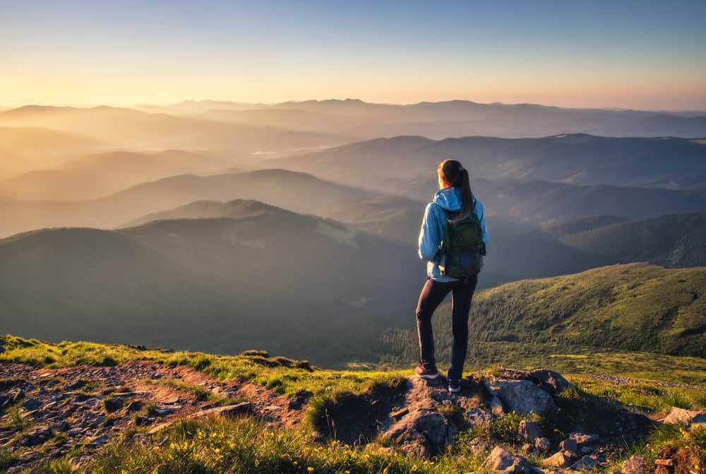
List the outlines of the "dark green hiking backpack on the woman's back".
<svg viewBox="0 0 706 474">
<path fill-rule="evenodd" d="M 445 277 L 472 277 L 481 271 L 481 255 L 485 255 L 483 229 L 475 212 L 455 224 L 458 212 L 447 211 L 446 224 L 441 241 L 439 269 Z"/>
</svg>

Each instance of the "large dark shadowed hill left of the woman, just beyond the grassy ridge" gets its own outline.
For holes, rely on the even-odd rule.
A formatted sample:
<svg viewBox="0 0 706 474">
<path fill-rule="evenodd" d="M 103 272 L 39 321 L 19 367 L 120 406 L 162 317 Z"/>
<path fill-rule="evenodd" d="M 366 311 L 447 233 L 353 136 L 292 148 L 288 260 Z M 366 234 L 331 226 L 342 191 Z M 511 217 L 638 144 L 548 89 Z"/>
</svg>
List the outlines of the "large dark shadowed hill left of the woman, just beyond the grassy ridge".
<svg viewBox="0 0 706 474">
<path fill-rule="evenodd" d="M 6 238 L 0 326 L 54 341 L 375 360 L 376 334 L 390 317 L 412 314 L 423 264 L 405 247 L 335 221 L 266 208 L 237 219 Z"/>
</svg>

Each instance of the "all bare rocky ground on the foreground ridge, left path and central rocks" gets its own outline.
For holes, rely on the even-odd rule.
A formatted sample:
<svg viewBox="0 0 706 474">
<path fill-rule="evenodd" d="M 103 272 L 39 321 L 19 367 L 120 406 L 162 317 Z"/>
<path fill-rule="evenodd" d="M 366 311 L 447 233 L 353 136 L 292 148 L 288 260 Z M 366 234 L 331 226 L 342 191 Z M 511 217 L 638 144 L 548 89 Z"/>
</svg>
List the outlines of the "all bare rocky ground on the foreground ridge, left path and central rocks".
<svg viewBox="0 0 706 474">
<path fill-rule="evenodd" d="M 566 473 L 606 468 L 621 454 L 621 446 L 656 423 L 706 423 L 706 414 L 678 408 L 656 421 L 601 401 L 577 401 L 565 396 L 571 384 L 550 370 L 472 375 L 463 380 L 460 394 L 450 394 L 441 377 L 403 382 L 386 391 L 340 397 L 326 407 L 318 425 L 315 420 L 320 437 L 434 456 L 448 449 L 460 432 L 470 430 L 477 434 L 467 441 L 472 449 L 483 456 L 490 453 L 484 464 L 489 470 L 542 472 L 527 461 L 532 458 L 545 472 Z M 191 367 L 141 360 L 57 370 L 6 363 L 0 364 L 0 445 L 19 455 L 8 472 L 73 452 L 75 465 L 85 466 L 92 453 L 112 439 L 136 431 L 140 434 L 134 436 L 156 434 L 180 418 L 247 414 L 276 426 L 296 427 L 308 402 L 306 394 L 281 396 L 246 380 L 224 383 Z M 496 446 L 489 431 L 493 420 L 517 415 L 525 419 L 513 428 L 510 441 L 522 446 L 527 457 Z M 576 417 L 575 425 L 570 416 Z M 547 420 L 563 429 L 549 432 Z M 633 459 L 624 472 L 677 472 L 677 454 L 668 455 L 657 466 L 642 466 L 639 458 Z"/>
</svg>

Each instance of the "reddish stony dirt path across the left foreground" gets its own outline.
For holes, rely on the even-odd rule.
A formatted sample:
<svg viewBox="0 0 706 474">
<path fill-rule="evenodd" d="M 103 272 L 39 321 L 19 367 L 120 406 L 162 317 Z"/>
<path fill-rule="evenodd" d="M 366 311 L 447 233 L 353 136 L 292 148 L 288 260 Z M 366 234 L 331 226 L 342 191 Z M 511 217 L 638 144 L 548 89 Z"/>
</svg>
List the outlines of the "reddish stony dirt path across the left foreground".
<svg viewBox="0 0 706 474">
<path fill-rule="evenodd" d="M 300 400 L 241 379 L 222 382 L 191 367 L 135 360 L 114 367 L 35 369 L 0 364 L 0 446 L 28 466 L 76 444 L 99 447 L 129 427 L 154 427 L 247 401 L 267 423 L 301 423 Z"/>
</svg>

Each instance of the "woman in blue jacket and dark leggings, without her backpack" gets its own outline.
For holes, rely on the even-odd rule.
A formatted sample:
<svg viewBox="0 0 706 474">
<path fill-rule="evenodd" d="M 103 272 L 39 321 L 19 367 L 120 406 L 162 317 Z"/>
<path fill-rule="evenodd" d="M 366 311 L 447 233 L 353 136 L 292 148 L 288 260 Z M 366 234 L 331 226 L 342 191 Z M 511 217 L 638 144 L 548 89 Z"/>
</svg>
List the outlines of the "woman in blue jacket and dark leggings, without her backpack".
<svg viewBox="0 0 706 474">
<path fill-rule="evenodd" d="M 419 335 L 421 357 L 415 372 L 418 377 L 426 379 L 433 379 L 441 375 L 434 360 L 431 315 L 446 295 L 451 292 L 453 349 L 451 367 L 446 378 L 449 391 L 456 393 L 461 390 L 463 363 L 468 346 L 468 313 L 471 309 L 471 300 L 478 275 L 454 279 L 442 274 L 439 262 L 443 229 L 450 217 L 453 218 L 453 222 L 460 221 L 474 212 L 481 224 L 485 246 L 488 245 L 488 231 L 485 225 L 483 205 L 471 192 L 468 171 L 455 159 L 441 162 L 436 171 L 441 189 L 434 195 L 433 201 L 426 206 L 419 233 L 419 257 L 422 260 L 427 260 L 427 265 L 426 282 L 424 288 L 421 288 L 417 305 L 417 334 Z"/>
</svg>

